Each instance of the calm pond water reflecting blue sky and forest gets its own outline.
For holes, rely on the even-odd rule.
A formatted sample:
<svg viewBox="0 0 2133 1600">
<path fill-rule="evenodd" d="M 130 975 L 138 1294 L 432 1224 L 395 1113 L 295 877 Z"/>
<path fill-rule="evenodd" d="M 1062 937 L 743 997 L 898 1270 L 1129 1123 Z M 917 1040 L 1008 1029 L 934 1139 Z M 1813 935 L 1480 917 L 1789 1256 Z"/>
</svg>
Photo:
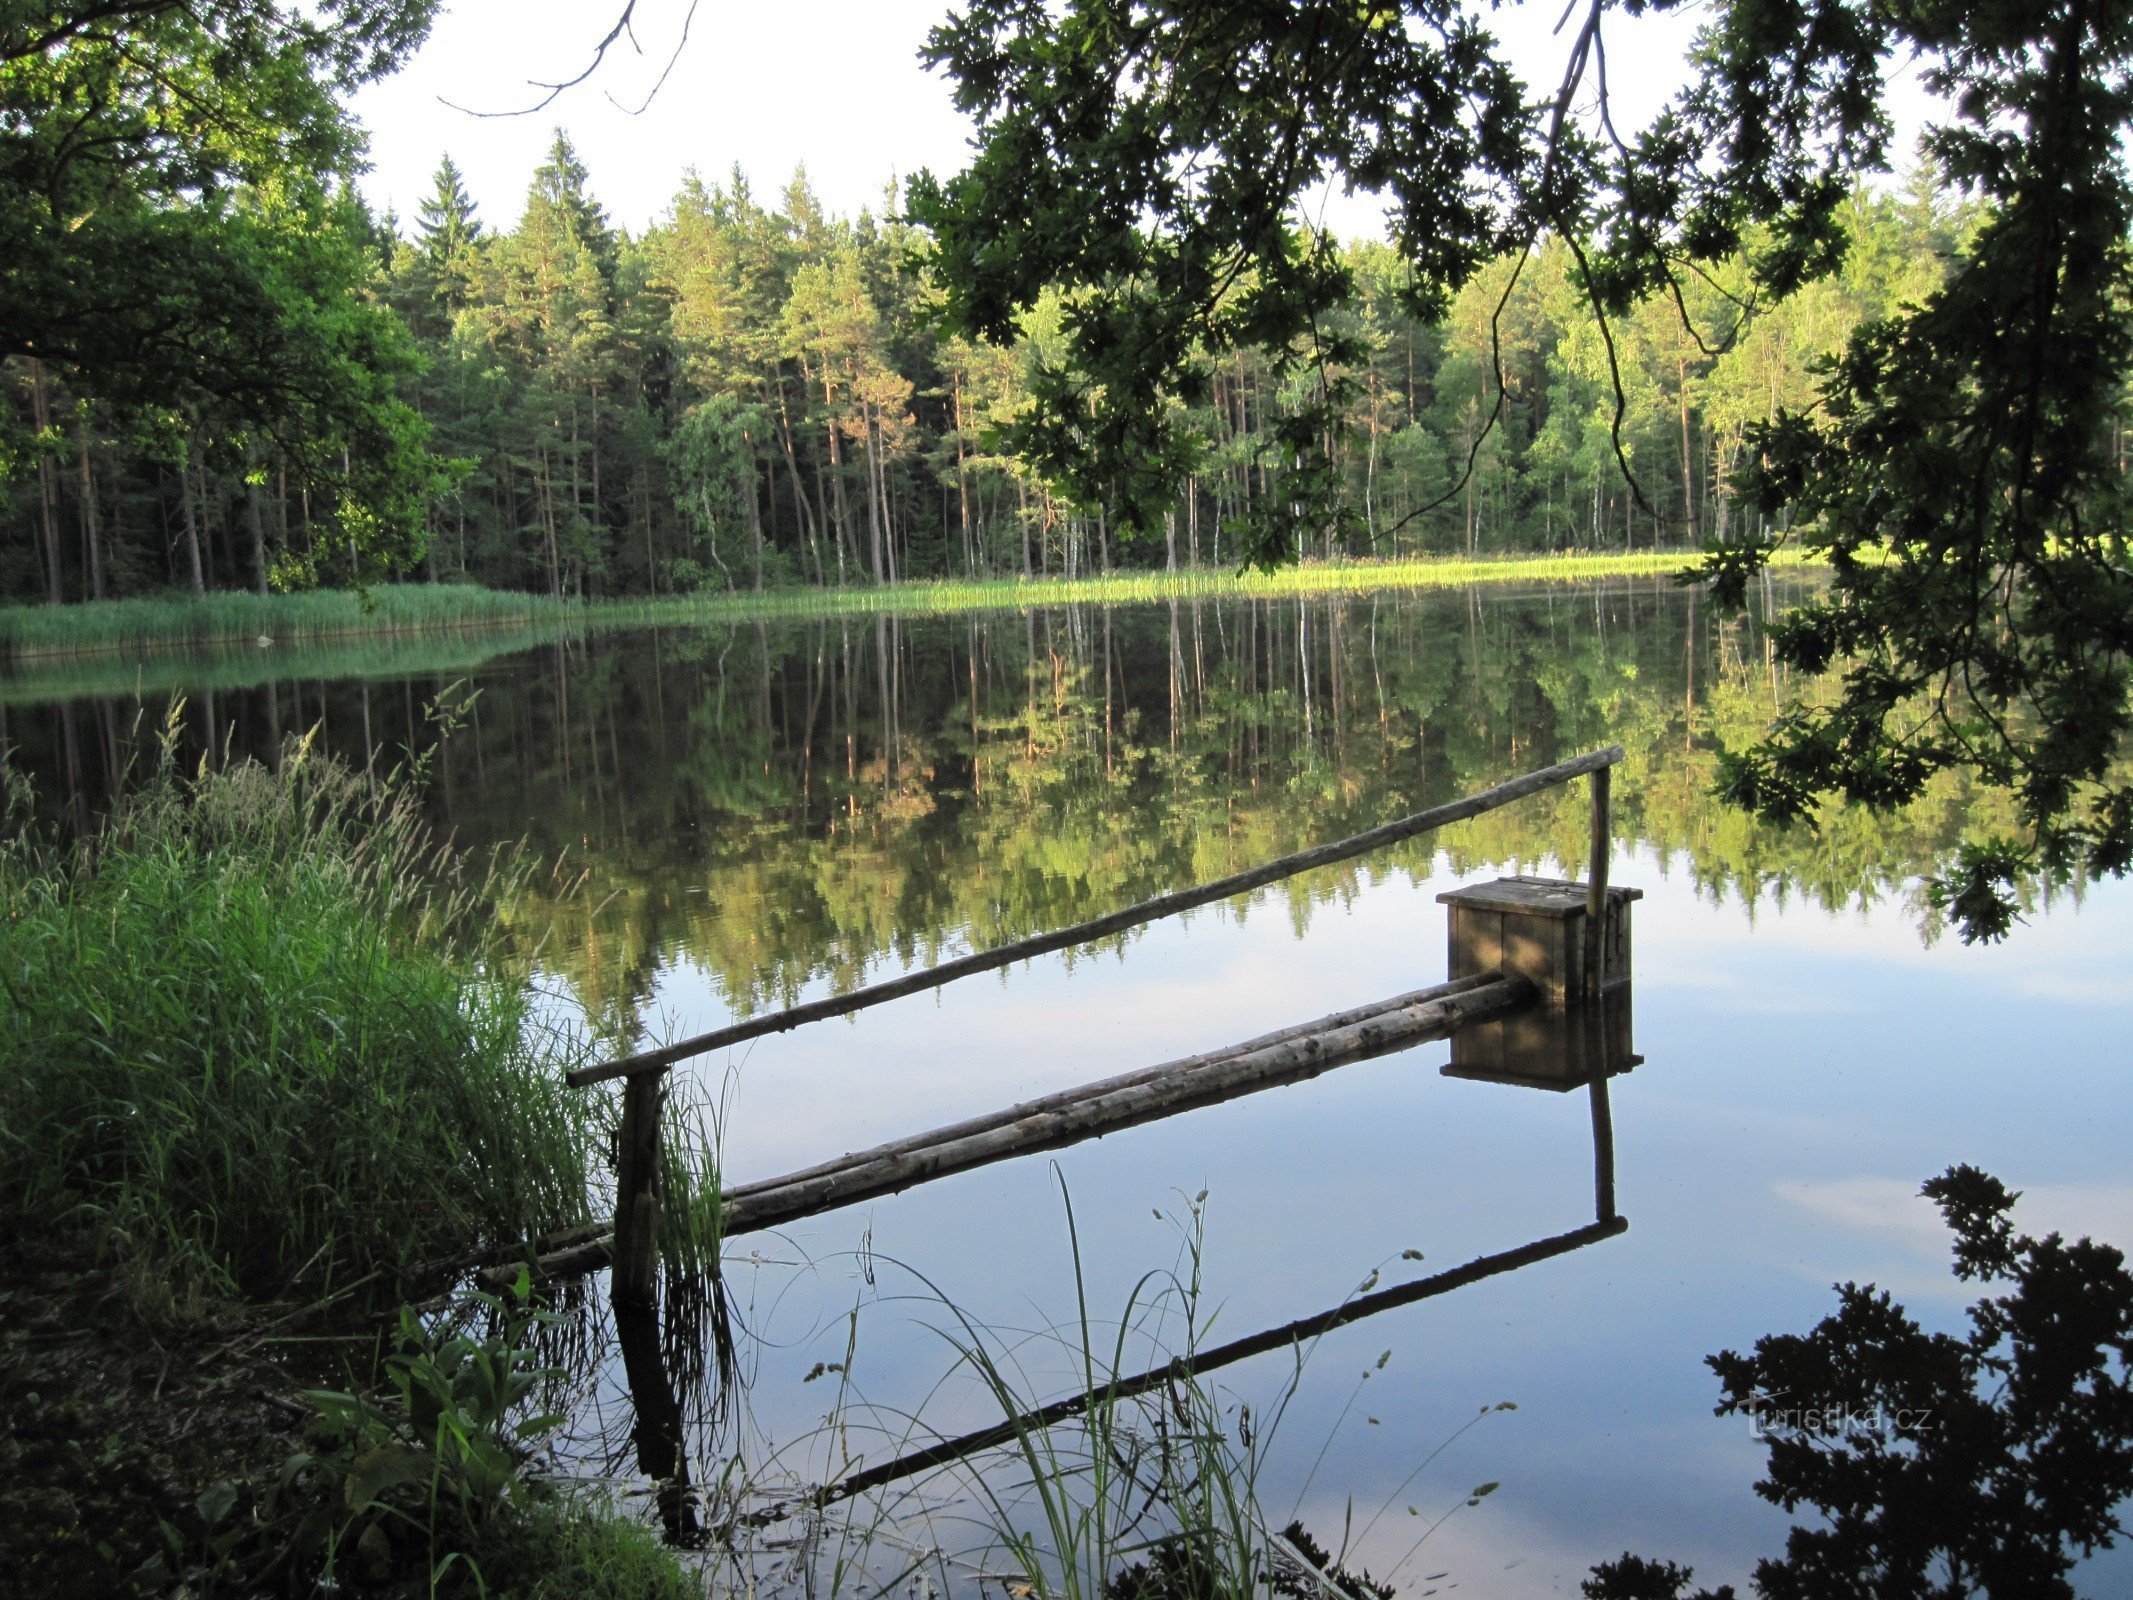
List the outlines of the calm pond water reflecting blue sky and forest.
<svg viewBox="0 0 2133 1600">
<path fill-rule="evenodd" d="M 192 751 L 264 755 L 311 725 L 358 762 L 427 751 L 439 823 L 561 862 L 501 915 L 608 1050 L 1621 742 L 1610 877 L 1645 894 L 1642 1065 L 1608 1086 L 1610 1129 L 1583 1092 L 1448 1077 L 1446 1045 L 1423 1045 L 732 1239 L 738 1387 L 685 1397 L 695 1483 L 744 1483 L 759 1506 L 998 1421 L 956 1370 L 973 1338 L 1039 1404 L 1081 1382 L 1084 1306 L 1109 1355 L 1141 1284 L 1124 1370 L 1182 1344 L 1184 1310 L 1150 1301 L 1167 1280 L 1148 1274 L 1197 1280 L 1194 1338 L 1220 1346 L 1587 1229 L 1610 1158 L 1623 1231 L 1329 1331 L 1301 1374 L 1278 1350 L 1209 1378 L 1231 1423 L 1250 1408 L 1276 1527 L 1346 1542 L 1401 1594 L 1546 1596 L 1623 1549 L 1745 1583 L 1781 1547 L 1787 1519 L 1751 1493 L 1764 1449 L 1713 1417 L 1704 1357 L 1805 1331 L 1849 1278 L 1956 1327 L 1971 1295 L 1924 1178 L 1973 1163 L 2024 1190 L 2028 1231 L 2133 1242 L 2133 894 L 2060 896 L 2007 945 L 1967 949 L 1935 937 L 1915 873 L 2001 817 L 1994 796 L 1947 779 L 1903 817 L 1841 813 L 1817 834 L 1728 813 L 1709 798 L 1715 751 L 1796 687 L 1753 617 L 1615 582 L 258 651 L 15 681 L 0 738 L 49 806 L 83 813 L 137 715 L 154 723 L 173 693 Z M 439 700 L 461 710 L 435 719 Z M 1551 789 L 736 1047 L 680 1073 L 683 1094 L 725 1178 L 749 1182 L 1212 1050 L 1442 979 L 1436 898 L 1581 877 L 1585 828 L 1585 785 Z M 642 1489 L 602 1301 L 572 1451 Z M 907 1551 L 981 1547 L 975 1493 L 934 1476 L 853 1517 L 894 1574 Z M 755 1538 L 770 1564 L 796 1549 L 779 1525 Z M 834 1542 L 813 1540 L 802 1553 Z M 975 1577 L 919 1568 L 936 1587 Z M 2095 1589 L 2129 1585 L 2122 1553 L 2090 1568 Z"/>
</svg>

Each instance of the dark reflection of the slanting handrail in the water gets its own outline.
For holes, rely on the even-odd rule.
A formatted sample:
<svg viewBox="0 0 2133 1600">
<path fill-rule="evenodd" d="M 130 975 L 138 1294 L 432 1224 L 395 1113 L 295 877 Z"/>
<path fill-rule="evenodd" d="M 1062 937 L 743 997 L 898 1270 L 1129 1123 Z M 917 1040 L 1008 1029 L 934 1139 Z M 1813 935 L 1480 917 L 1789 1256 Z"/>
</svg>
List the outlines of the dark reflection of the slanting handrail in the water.
<svg viewBox="0 0 2133 1600">
<path fill-rule="evenodd" d="M 1192 1359 L 1167 1361 L 1160 1367 L 1150 1367 L 1148 1372 L 1137 1372 L 1130 1378 L 1118 1378 L 1103 1385 L 1101 1389 L 1090 1389 L 1079 1395 L 1066 1395 L 1064 1399 L 1054 1399 L 1049 1406 L 1039 1406 L 1037 1410 L 1026 1410 L 1020 1417 L 1009 1417 L 1007 1421 L 994 1423 L 992 1427 L 979 1427 L 971 1434 L 958 1438 L 941 1440 L 939 1444 L 928 1444 L 921 1451 L 909 1451 L 898 1455 L 894 1461 L 883 1461 L 881 1466 L 866 1468 L 864 1472 L 853 1472 L 840 1483 L 825 1485 L 813 1493 L 787 1500 L 776 1506 L 766 1506 L 753 1510 L 747 1517 L 736 1519 L 734 1525 L 766 1527 L 768 1523 L 785 1521 L 800 1510 L 821 1510 L 823 1506 L 834 1506 L 838 1500 L 851 1500 L 868 1489 L 879 1489 L 898 1478 L 909 1478 L 917 1472 L 928 1472 L 936 1466 L 947 1466 L 949 1461 L 960 1461 L 966 1455 L 977 1455 L 979 1451 L 990 1451 L 1000 1444 L 1030 1434 L 1039 1427 L 1052 1427 L 1069 1417 L 1088 1410 L 1092 1404 L 1116 1404 L 1120 1399 L 1133 1399 L 1135 1395 L 1145 1395 L 1150 1389 L 1160 1389 L 1167 1382 L 1177 1382 L 1184 1378 L 1197 1378 L 1207 1372 L 1246 1361 L 1254 1355 L 1271 1355 L 1273 1350 L 1290 1350 L 1299 1344 L 1316 1340 L 1331 1333 L 1337 1327 L 1350 1323 L 1361 1323 L 1365 1316 L 1380 1316 L 1382 1312 L 1397 1310 L 1401 1306 L 1414 1306 L 1416 1301 L 1431 1299 L 1436 1295 L 1448 1295 L 1455 1289 L 1465 1289 L 1485 1278 L 1495 1278 L 1502 1271 L 1514 1271 L 1519 1267 L 1529 1267 L 1536 1261 L 1549 1261 L 1551 1257 L 1568 1254 L 1570 1250 L 1583 1250 L 1600 1239 L 1613 1239 L 1617 1233 L 1625 1233 L 1630 1225 L 1615 1216 L 1602 1222 L 1587 1222 L 1570 1233 L 1557 1233 L 1551 1239 L 1536 1239 L 1534 1244 L 1523 1244 L 1517 1250 L 1502 1250 L 1497 1254 L 1476 1257 L 1463 1267 L 1453 1267 L 1450 1271 L 1440 1271 L 1429 1278 L 1416 1278 L 1410 1284 L 1399 1284 L 1395 1289 L 1380 1289 L 1374 1295 L 1357 1295 L 1342 1301 L 1333 1310 L 1318 1312 L 1316 1316 L 1299 1316 L 1293 1323 L 1282 1323 L 1280 1327 L 1269 1327 L 1263 1333 L 1252 1333 L 1241 1340 L 1231 1340 L 1229 1344 L 1218 1344 L 1212 1350 L 1199 1350 Z"/>
</svg>

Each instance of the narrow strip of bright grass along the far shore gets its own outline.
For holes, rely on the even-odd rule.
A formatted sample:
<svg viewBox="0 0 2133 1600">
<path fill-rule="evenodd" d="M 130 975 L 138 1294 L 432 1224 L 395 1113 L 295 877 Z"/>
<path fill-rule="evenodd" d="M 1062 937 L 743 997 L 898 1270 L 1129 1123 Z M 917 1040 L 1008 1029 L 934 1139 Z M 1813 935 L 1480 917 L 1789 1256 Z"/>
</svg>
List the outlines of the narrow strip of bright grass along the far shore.
<svg viewBox="0 0 2133 1600">
<path fill-rule="evenodd" d="M 13 663 L 94 655 L 141 655 L 198 646 L 318 646 L 335 640 L 476 634 L 557 623 L 776 621 L 796 617 L 930 614 L 1062 604 L 1126 604 L 1192 597 L 1273 597 L 1374 589 L 1448 589 L 1470 582 L 1576 582 L 1664 576 L 1700 559 L 1694 550 L 1636 555 L 1536 555 L 1489 561 L 1342 561 L 1280 572 L 1113 572 L 1096 578 L 992 578 L 902 582 L 866 589 L 704 591 L 638 599 L 550 599 L 474 585 L 382 585 L 367 595 L 218 593 L 107 599 L 79 606 L 0 608 L 0 653 Z M 1785 561 L 1792 563 L 1792 561 Z"/>
</svg>

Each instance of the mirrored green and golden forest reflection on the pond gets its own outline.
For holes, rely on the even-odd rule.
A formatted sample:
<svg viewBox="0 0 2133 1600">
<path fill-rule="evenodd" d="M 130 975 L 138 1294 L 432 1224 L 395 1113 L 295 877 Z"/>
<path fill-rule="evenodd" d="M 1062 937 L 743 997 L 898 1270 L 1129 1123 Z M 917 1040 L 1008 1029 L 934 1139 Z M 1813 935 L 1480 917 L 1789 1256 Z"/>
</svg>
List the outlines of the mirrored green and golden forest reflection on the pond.
<svg viewBox="0 0 2133 1600">
<path fill-rule="evenodd" d="M 1711 806 L 1713 749 L 1787 685 L 1751 619 L 1704 617 L 1670 585 L 644 629 L 486 661 L 446 642 L 420 672 L 395 649 L 386 678 L 250 681 L 262 663 L 241 657 L 235 685 L 224 661 L 141 666 L 134 695 L 15 681 L 0 738 L 73 817 L 105 802 L 173 693 L 190 695 L 188 762 L 273 759 L 311 727 L 358 766 L 427 757 L 431 806 L 463 843 L 531 838 L 570 862 L 503 917 L 616 1047 L 676 962 L 734 1013 L 789 1005 L 1606 740 L 1636 772 L 1617 832 L 1687 851 L 1711 894 L 1871 900 L 1964 815 L 1992 821 L 1956 781 L 1819 836 Z M 433 725 L 424 708 L 459 681 L 478 698 Z M 1497 813 L 1453 836 L 1455 862 L 1576 870 L 1578 821 L 1570 796 Z M 1314 877 L 1290 915 L 1357 883 Z"/>
</svg>

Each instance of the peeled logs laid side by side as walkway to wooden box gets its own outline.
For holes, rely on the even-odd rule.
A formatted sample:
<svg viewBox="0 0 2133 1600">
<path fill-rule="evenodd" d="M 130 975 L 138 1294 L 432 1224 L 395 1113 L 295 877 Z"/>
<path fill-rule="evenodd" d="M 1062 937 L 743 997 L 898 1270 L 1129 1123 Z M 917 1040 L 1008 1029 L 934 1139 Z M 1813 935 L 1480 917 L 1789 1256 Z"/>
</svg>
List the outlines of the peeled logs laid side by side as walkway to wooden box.
<svg viewBox="0 0 2133 1600">
<path fill-rule="evenodd" d="M 1301 1028 L 1269 1035 L 1273 1043 L 1188 1056 L 1079 1090 L 1024 1101 L 983 1118 L 896 1139 L 802 1173 L 749 1184 L 723 1199 L 725 1235 L 757 1233 L 832 1212 L 866 1199 L 894 1195 L 915 1184 L 990 1167 L 1013 1156 L 1060 1150 L 1120 1129 L 1156 1122 L 1180 1111 L 1252 1094 L 1282 1084 L 1301 1084 L 1333 1067 L 1384 1056 L 1429 1039 L 1444 1039 L 1461 1026 L 1504 1015 L 1531 1001 L 1534 988 L 1517 977 L 1485 977 L 1438 986 L 1431 998 L 1406 1005 L 1359 1007 Z M 1401 996 L 1408 998 L 1408 996 Z M 634 1079 L 644 1082 L 644 1079 Z M 542 1257 L 544 1278 L 593 1271 L 608 1261 L 612 1239 L 591 1239 Z M 516 1267 L 497 1267 L 510 1276 Z"/>
</svg>

